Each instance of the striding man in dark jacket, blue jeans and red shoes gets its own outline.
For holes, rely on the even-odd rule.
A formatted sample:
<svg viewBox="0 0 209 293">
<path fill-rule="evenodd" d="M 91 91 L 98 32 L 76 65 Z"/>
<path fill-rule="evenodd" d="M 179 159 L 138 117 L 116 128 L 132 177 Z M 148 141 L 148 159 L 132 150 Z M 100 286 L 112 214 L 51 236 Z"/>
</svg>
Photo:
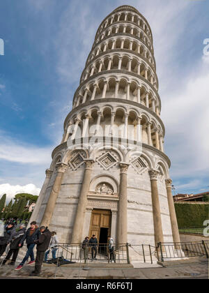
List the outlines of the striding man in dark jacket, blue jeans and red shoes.
<svg viewBox="0 0 209 293">
<path fill-rule="evenodd" d="M 28 263 L 28 265 L 35 263 L 33 248 L 36 245 L 35 241 L 38 239 L 39 235 L 40 235 L 40 230 L 39 230 L 38 226 L 36 225 L 36 222 L 35 221 L 31 222 L 31 227 L 28 230 L 26 230 L 26 233 L 24 234 L 24 236 L 22 237 L 22 239 L 19 243 L 19 246 L 21 247 L 24 243 L 24 240 L 26 239 L 26 244 L 27 244 L 28 250 L 26 252 L 24 259 L 19 264 L 19 266 L 17 266 L 15 271 L 19 271 L 20 269 L 22 269 L 22 266 L 29 259 L 29 257 L 31 257 L 31 261 Z"/>
</svg>

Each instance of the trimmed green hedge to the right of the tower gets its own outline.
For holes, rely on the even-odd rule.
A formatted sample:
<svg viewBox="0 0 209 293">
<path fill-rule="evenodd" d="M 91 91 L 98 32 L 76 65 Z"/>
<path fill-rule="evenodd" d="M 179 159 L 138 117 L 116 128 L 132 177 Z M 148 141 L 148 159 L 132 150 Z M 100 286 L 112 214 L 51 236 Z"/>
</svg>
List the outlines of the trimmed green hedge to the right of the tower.
<svg viewBox="0 0 209 293">
<path fill-rule="evenodd" d="M 179 228 L 203 227 L 209 219 L 209 204 L 175 203 L 176 218 Z"/>
</svg>

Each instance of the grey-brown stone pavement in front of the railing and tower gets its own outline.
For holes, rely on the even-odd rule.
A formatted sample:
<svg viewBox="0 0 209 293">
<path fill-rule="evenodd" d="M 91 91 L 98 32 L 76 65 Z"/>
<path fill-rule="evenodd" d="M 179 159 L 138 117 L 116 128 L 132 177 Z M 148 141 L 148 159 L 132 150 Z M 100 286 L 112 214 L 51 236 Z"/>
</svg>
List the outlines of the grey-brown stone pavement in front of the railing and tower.
<svg viewBox="0 0 209 293">
<path fill-rule="evenodd" d="M 206 258 L 193 258 L 164 262 L 162 265 L 141 264 L 133 268 L 127 264 L 67 264 L 56 268 L 54 264 L 44 264 L 39 277 L 30 277 L 34 266 L 24 266 L 22 270 L 15 271 L 15 267 L 6 264 L 0 267 L 1 279 L 17 278 L 46 278 L 46 279 L 171 279 L 171 278 L 199 278 L 208 279 L 208 260 Z"/>
</svg>

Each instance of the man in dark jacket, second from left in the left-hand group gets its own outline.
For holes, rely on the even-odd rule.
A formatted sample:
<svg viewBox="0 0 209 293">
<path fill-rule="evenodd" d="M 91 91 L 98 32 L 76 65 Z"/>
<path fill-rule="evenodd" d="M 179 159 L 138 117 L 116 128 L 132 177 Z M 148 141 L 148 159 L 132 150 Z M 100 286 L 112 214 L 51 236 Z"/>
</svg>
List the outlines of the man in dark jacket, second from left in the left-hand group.
<svg viewBox="0 0 209 293">
<path fill-rule="evenodd" d="M 22 225 L 20 225 L 20 230 L 13 234 L 13 240 L 10 243 L 10 250 L 8 251 L 8 254 L 6 255 L 5 260 L 3 260 L 2 265 L 6 264 L 6 262 L 8 260 L 10 260 L 10 257 L 12 255 L 13 255 L 13 258 L 12 258 L 12 261 L 10 262 L 10 264 L 11 265 L 15 264 L 15 262 L 17 260 L 17 255 L 20 250 L 19 243 L 20 243 L 21 239 L 24 237 L 25 232 L 26 232 L 26 228 L 22 224 Z"/>
</svg>

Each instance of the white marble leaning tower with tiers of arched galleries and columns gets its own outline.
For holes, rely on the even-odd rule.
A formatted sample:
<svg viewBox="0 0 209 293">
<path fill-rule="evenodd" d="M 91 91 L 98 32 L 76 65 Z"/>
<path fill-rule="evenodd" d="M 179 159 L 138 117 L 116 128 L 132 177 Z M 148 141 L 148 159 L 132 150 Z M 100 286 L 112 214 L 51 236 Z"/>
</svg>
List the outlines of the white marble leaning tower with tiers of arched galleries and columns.
<svg viewBox="0 0 209 293">
<path fill-rule="evenodd" d="M 120 6 L 95 34 L 32 219 L 65 243 L 179 242 L 160 112 L 150 26 Z"/>
</svg>

